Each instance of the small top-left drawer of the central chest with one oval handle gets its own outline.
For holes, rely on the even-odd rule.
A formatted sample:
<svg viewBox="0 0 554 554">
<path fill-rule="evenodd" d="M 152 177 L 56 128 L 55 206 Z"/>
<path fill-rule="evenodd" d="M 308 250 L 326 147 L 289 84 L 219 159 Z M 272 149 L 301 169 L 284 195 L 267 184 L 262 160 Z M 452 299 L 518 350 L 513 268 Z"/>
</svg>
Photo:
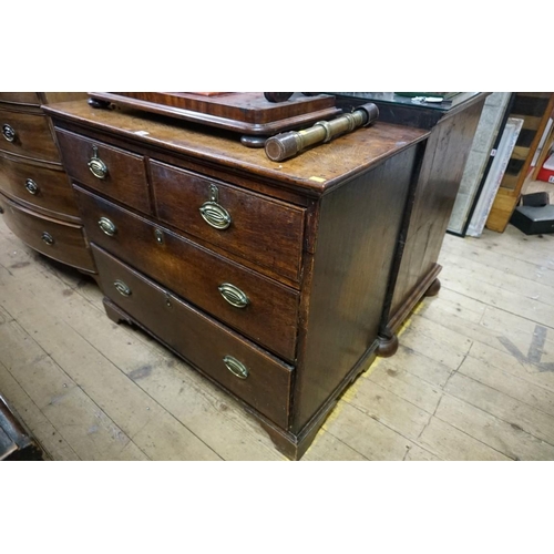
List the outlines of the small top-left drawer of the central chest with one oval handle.
<svg viewBox="0 0 554 554">
<path fill-rule="evenodd" d="M 66 131 L 57 130 L 57 135 L 71 178 L 138 212 L 152 213 L 143 156 Z"/>
</svg>

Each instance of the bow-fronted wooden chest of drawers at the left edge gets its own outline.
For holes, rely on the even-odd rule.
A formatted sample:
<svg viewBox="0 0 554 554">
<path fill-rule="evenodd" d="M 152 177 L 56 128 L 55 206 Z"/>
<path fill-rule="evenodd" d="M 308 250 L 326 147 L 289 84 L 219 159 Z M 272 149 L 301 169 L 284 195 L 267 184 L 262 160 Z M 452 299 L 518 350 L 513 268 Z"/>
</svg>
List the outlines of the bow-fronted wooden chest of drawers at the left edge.
<svg viewBox="0 0 554 554">
<path fill-rule="evenodd" d="M 40 253 L 94 273 L 73 191 L 41 105 L 83 93 L 0 92 L 0 211 L 8 227 Z"/>
</svg>

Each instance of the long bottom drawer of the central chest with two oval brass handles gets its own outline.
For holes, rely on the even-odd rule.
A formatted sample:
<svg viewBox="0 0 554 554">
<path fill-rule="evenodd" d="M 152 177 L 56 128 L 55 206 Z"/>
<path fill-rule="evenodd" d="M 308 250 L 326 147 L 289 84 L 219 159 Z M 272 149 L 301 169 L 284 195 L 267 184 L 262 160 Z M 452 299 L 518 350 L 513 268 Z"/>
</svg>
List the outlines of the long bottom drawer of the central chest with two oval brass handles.
<svg viewBox="0 0 554 554">
<path fill-rule="evenodd" d="M 204 316 L 95 245 L 92 249 L 102 289 L 116 306 L 253 408 L 278 425 L 288 427 L 289 366 Z M 240 373 L 244 368 L 247 369 L 246 377 Z"/>
</svg>

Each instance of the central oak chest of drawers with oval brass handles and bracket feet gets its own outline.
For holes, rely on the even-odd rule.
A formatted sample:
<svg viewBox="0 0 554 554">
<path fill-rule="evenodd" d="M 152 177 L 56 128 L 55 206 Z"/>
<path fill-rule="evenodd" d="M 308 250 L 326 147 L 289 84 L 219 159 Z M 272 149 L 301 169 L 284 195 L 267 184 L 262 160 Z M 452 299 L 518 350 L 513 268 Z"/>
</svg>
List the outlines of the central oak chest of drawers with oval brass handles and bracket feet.
<svg viewBox="0 0 554 554">
<path fill-rule="evenodd" d="M 428 132 L 377 123 L 275 163 L 153 115 L 45 110 L 107 315 L 151 332 L 301 456 L 375 357 Z"/>
</svg>

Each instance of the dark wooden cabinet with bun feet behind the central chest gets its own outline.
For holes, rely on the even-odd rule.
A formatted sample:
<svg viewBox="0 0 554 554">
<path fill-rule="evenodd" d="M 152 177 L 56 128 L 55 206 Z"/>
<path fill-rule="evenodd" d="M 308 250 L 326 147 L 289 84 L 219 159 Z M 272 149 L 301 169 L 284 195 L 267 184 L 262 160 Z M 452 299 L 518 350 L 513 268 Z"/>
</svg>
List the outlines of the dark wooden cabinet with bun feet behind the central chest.
<svg viewBox="0 0 554 554">
<path fill-rule="evenodd" d="M 338 104 L 345 110 L 371 101 L 381 121 L 430 133 L 397 244 L 379 334 L 380 356 L 396 352 L 402 322 L 423 296 L 440 289 L 442 268 L 437 260 L 486 96 L 464 92 L 442 103 L 425 103 L 396 93 L 339 93 Z"/>
</svg>

